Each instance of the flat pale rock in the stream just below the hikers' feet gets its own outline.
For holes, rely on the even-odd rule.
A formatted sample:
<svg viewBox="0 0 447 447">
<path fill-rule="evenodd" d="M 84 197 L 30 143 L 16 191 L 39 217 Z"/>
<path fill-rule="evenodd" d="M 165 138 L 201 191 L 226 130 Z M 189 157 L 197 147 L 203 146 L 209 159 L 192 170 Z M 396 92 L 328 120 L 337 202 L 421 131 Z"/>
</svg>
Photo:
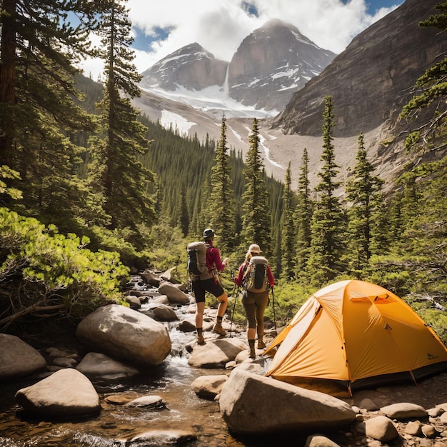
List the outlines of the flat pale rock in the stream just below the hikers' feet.
<svg viewBox="0 0 447 447">
<path fill-rule="evenodd" d="M 225 368 L 226 363 L 234 360 L 238 353 L 247 348 L 238 338 L 219 338 L 196 345 L 188 359 L 191 366 L 197 368 Z"/>
</svg>

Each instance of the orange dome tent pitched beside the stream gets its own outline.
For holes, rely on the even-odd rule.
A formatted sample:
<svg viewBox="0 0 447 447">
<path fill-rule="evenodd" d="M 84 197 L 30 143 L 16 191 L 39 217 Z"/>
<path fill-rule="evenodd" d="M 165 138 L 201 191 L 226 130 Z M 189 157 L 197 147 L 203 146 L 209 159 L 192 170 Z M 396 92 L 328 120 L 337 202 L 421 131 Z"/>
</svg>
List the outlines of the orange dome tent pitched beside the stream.
<svg viewBox="0 0 447 447">
<path fill-rule="evenodd" d="M 308 298 L 274 338 L 266 376 L 329 379 L 351 389 L 447 371 L 447 348 L 405 301 L 365 281 L 339 281 Z"/>
</svg>

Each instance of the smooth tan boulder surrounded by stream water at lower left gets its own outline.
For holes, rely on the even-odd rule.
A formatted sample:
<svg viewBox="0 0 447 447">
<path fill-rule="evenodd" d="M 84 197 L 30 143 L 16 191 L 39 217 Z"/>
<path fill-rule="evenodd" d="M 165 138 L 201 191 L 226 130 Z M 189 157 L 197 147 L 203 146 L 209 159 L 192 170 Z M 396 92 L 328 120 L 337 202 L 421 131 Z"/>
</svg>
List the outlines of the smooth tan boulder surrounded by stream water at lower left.
<svg viewBox="0 0 447 447">
<path fill-rule="evenodd" d="M 99 396 L 84 374 L 66 368 L 34 385 L 21 388 L 14 396 L 25 410 L 58 418 L 99 413 Z"/>
</svg>

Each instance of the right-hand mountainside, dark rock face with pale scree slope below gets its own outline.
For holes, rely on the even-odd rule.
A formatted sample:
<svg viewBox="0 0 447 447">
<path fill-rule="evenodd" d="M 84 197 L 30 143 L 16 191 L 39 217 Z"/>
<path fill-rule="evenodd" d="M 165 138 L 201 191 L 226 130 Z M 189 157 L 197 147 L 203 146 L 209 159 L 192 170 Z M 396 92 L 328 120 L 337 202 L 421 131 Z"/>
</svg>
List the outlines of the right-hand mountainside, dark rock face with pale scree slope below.
<svg viewBox="0 0 447 447">
<path fill-rule="evenodd" d="M 404 145 L 406 133 L 417 126 L 417 122 L 400 121 L 398 115 L 411 96 L 416 79 L 434 64 L 438 54 L 447 51 L 446 39 L 436 39 L 436 30 L 418 26 L 421 20 L 436 14 L 437 3 L 438 0 L 406 0 L 356 36 L 321 74 L 307 81 L 303 88 L 296 89 L 283 111 L 276 116 L 256 116 L 269 175 L 283 180 L 288 161 L 291 161 L 292 186 L 296 188 L 306 148 L 309 181 L 311 186 L 316 186 L 322 164 L 323 101 L 331 94 L 336 122 L 333 145 L 336 163 L 340 166 L 339 180 L 345 181 L 350 175 L 349 168 L 356 163 L 357 139 L 362 131 L 376 175 L 386 181 L 384 189 L 391 190 L 391 182 L 408 162 Z M 253 122 L 249 109 L 243 114 L 231 115 L 224 106 L 200 111 L 190 107 L 181 114 L 194 122 L 189 134 L 197 134 L 199 139 L 209 135 L 217 140 L 224 111 L 228 144 L 245 154 Z M 158 113 L 161 116 L 161 110 Z M 206 125 L 206 131 L 201 128 L 201 114 L 210 117 L 209 123 L 214 119 L 215 129 L 211 124 Z"/>
</svg>

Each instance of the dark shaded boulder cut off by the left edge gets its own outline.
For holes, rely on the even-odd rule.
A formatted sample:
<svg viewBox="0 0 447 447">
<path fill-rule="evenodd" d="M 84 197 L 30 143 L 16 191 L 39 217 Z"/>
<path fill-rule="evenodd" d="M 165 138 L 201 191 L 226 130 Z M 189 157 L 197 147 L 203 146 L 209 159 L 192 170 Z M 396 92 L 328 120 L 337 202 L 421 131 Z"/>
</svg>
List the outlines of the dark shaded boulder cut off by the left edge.
<svg viewBox="0 0 447 447">
<path fill-rule="evenodd" d="M 46 367 L 45 358 L 19 337 L 0 333 L 0 381 L 29 376 Z"/>
</svg>

